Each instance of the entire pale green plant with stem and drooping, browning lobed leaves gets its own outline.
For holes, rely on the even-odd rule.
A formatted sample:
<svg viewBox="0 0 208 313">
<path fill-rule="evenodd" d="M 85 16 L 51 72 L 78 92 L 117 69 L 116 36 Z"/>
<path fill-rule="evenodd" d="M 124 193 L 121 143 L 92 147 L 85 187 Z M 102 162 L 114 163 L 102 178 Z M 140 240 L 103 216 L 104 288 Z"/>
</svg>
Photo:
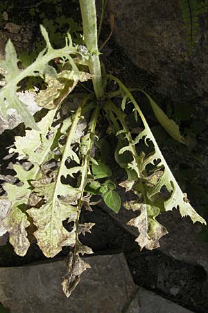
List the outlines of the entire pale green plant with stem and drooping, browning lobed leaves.
<svg viewBox="0 0 208 313">
<path fill-rule="evenodd" d="M 46 257 L 54 257 L 63 246 L 71 247 L 67 274 L 62 282 L 67 296 L 75 289 L 81 273 L 89 268 L 81 256 L 92 253 L 91 248 L 80 242 L 79 235 L 91 232 L 94 223 L 81 223 L 81 211 L 92 210 L 94 195 L 99 195 L 116 214 L 121 209 L 121 198 L 116 192 L 115 164 L 112 166 L 107 155 L 112 149 L 105 134 L 104 138 L 102 136 L 102 123 L 98 122 L 101 116 L 109 123 L 108 135 L 116 141 L 114 159 L 123 172 L 120 191 L 125 188 L 126 193 L 136 196 L 136 200 L 125 202 L 123 207 L 138 211 L 138 216 L 128 224 L 137 227 L 139 246 L 159 247 L 159 239 L 167 232 L 156 220 L 162 211 L 179 208 L 180 214 L 190 216 L 193 223 L 205 223 L 191 207 L 187 195 L 182 193 L 128 88 L 116 77 L 101 76 L 95 2 L 90 0 L 85 4 L 80 0 L 85 15 L 83 22 L 89 23 L 87 28 L 84 27 L 88 32 L 87 47 L 74 44 L 68 34 L 65 46 L 54 49 L 46 29 L 41 26 L 46 48 L 31 65 L 19 69 L 15 48 L 10 41 L 6 45 L 6 60 L 0 63 L 5 83 L 0 90 L 1 112 L 6 115 L 8 108 L 16 109 L 29 128 L 25 136 L 15 137 L 15 147 L 10 148 L 10 153 L 18 155 L 14 170 L 19 184 L 3 185 L 10 210 L 0 228 L 9 232 L 10 243 L 21 256 L 30 246 L 31 236 L 28 235 L 31 234 Z M 58 69 L 49 65 L 54 58 L 60 60 Z M 36 101 L 48 112 L 37 123 L 16 95 L 19 83 L 26 77 L 41 77 L 46 86 L 40 90 Z M 69 109 L 63 118 L 62 102 L 80 81 L 89 79 L 92 79 L 95 94 L 75 94 L 76 107 Z M 106 83 L 114 80 L 119 89 L 105 93 L 103 79 Z M 117 99 L 114 104 L 114 97 L 121 98 L 121 109 Z M 175 122 L 168 119 L 148 94 L 146 97 L 162 127 L 177 141 L 185 143 Z M 140 122 L 143 125 L 137 134 L 125 114 L 130 102 L 134 106 L 132 117 L 135 124 Z M 27 168 L 25 162 L 29 163 Z M 70 223 L 69 228 L 66 223 Z"/>
</svg>

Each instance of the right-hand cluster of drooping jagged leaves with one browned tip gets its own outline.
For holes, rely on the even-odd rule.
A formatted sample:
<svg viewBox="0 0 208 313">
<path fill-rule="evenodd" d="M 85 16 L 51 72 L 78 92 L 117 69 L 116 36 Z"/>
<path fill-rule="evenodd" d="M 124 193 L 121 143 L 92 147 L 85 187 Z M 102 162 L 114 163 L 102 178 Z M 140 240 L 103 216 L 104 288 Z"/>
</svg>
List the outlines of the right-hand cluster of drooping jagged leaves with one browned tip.
<svg viewBox="0 0 208 313">
<path fill-rule="evenodd" d="M 116 161 L 121 168 L 125 168 L 128 174 L 128 180 L 120 185 L 125 187 L 126 192 L 133 191 L 138 195 L 137 201 L 125 203 L 125 207 L 128 209 L 141 211 L 141 214 L 130 220 L 129 224 L 138 228 L 139 237 L 136 240 L 141 248 L 157 248 L 159 247 L 159 238 L 166 234 L 165 227 L 155 219 L 162 211 L 179 207 L 180 214 L 190 216 L 193 223 L 196 221 L 205 223 L 205 220 L 191 207 L 186 194 L 182 193 L 135 99 L 119 79 L 111 75 L 107 75 L 107 77 L 119 83 L 122 92 L 134 104 L 135 110 L 144 124 L 144 130 L 133 139 L 125 122 L 125 114 L 116 108 L 112 101 L 105 104 L 107 115 L 116 131 L 118 141 L 121 143 L 116 150 Z M 122 126 L 121 130 L 119 130 L 119 124 Z M 139 150 L 137 145 L 142 141 L 148 147 L 152 146 L 148 154 L 142 150 L 139 154 L 137 153 Z M 123 154 L 126 154 L 125 157 L 119 158 Z"/>
</svg>

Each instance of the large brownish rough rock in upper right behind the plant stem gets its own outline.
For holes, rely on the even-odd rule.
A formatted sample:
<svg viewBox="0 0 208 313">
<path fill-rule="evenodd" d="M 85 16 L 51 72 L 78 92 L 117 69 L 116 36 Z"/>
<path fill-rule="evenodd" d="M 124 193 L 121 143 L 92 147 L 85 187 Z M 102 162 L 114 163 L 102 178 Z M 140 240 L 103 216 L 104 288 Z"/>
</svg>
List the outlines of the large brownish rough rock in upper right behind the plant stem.
<svg viewBox="0 0 208 313">
<path fill-rule="evenodd" d="M 189 56 L 179 1 L 112 0 L 114 33 L 132 61 L 155 74 L 157 92 L 173 102 L 208 96 L 208 19 L 200 15 L 196 47 Z"/>
</svg>

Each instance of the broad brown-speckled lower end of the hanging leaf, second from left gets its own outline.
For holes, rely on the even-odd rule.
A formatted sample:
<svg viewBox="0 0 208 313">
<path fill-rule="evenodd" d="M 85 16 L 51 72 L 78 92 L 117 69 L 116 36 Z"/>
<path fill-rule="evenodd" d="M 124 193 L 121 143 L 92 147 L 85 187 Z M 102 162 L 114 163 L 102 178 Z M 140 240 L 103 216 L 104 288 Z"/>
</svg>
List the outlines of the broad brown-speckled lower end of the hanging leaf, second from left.
<svg viewBox="0 0 208 313">
<path fill-rule="evenodd" d="M 39 196 L 44 195 L 46 203 L 40 209 L 28 210 L 37 226 L 34 235 L 44 255 L 54 257 L 62 250 L 62 246 L 73 246 L 76 240 L 75 226 L 68 232 L 62 223 L 67 218 L 74 220 L 77 216 L 76 206 L 72 204 L 77 203 L 80 191 L 62 185 L 60 180 L 51 184 L 39 184 L 35 191 Z M 71 201 L 64 200 L 66 195 L 70 195 Z"/>
</svg>

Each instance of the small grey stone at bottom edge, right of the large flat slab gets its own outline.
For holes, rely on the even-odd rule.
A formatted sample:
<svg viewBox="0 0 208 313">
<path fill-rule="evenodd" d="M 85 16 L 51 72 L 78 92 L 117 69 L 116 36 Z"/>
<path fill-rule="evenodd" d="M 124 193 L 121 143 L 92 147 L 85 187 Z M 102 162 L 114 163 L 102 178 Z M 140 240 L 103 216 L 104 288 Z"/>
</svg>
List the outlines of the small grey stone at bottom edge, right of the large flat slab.
<svg viewBox="0 0 208 313">
<path fill-rule="evenodd" d="M 139 313 L 191 313 L 184 307 L 142 288 L 138 291 L 137 299 L 141 305 Z"/>
</svg>

